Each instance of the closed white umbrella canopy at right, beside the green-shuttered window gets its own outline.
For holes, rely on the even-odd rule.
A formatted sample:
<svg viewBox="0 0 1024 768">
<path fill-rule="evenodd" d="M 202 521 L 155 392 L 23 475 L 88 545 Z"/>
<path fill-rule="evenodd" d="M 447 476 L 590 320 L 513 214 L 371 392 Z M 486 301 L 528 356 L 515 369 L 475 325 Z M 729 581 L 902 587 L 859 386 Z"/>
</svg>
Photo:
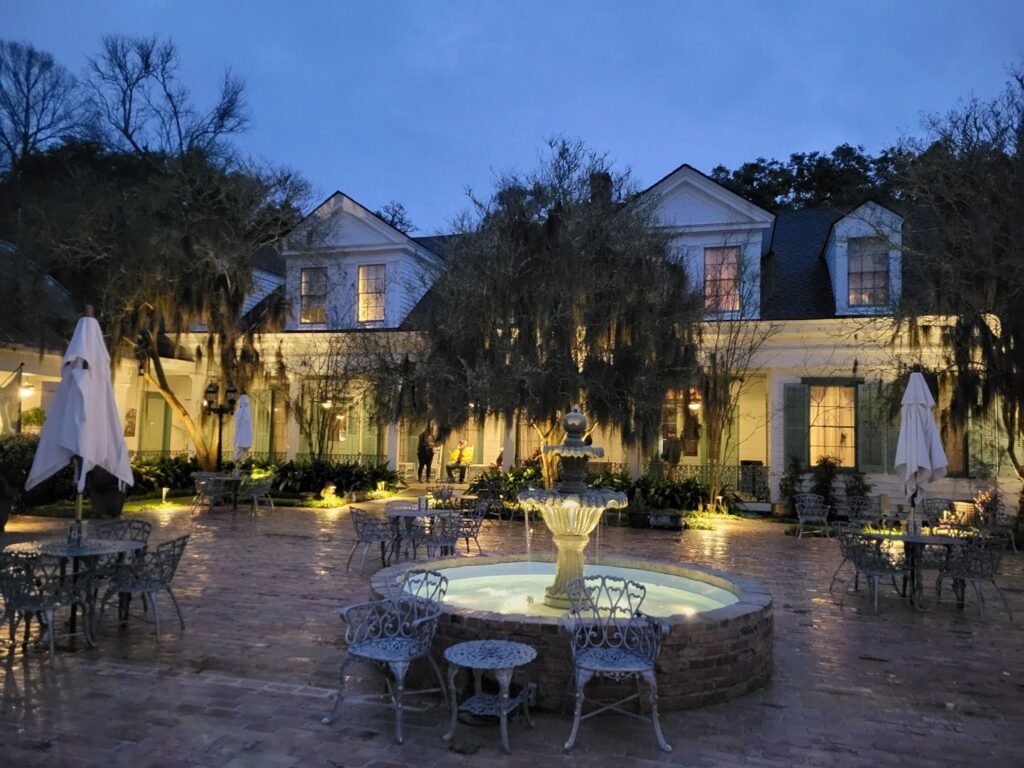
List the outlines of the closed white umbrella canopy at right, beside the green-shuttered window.
<svg viewBox="0 0 1024 768">
<path fill-rule="evenodd" d="M 914 371 L 903 392 L 896 443 L 896 474 L 903 481 L 911 506 L 928 483 L 946 474 L 946 452 L 942 450 L 933 408 L 935 398 L 925 377 Z"/>
</svg>

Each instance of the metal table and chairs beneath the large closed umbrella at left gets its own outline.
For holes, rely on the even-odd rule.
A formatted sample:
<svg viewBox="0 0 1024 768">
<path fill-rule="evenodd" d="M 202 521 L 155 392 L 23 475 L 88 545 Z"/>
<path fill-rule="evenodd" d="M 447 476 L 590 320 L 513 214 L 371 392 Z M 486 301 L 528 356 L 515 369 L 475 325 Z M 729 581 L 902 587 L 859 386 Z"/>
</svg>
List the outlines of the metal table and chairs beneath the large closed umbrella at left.
<svg viewBox="0 0 1024 768">
<path fill-rule="evenodd" d="M 58 611 L 67 609 L 67 635 L 74 642 L 81 636 L 95 647 L 109 605 L 116 602 L 122 627 L 129 620 L 133 596 L 141 597 L 145 613 L 160 640 L 157 596 L 167 592 L 181 629 L 184 617 L 171 582 L 184 553 L 188 536 L 150 546 L 152 524 L 144 520 L 114 519 L 91 522 L 80 542 L 62 539 L 10 544 L 0 552 L 0 623 L 8 628 L 8 652 L 17 645 L 28 648 L 32 622 L 36 618 L 49 648 L 50 664 L 56 649 L 60 625 Z M 69 565 L 71 569 L 69 570 Z M 17 642 L 18 626 L 25 634 Z"/>
</svg>

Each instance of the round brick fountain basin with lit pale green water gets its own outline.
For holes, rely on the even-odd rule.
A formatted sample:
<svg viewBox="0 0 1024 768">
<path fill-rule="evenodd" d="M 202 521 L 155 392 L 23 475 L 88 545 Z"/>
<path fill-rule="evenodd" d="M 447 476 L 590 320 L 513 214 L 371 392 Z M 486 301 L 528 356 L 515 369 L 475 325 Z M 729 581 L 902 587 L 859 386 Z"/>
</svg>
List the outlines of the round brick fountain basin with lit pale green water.
<svg viewBox="0 0 1024 768">
<path fill-rule="evenodd" d="M 434 652 L 464 640 L 517 640 L 537 648 L 528 674 L 538 684 L 538 703 L 569 703 L 572 666 L 561 611 L 545 606 L 544 587 L 554 563 L 522 557 L 449 558 L 402 563 L 378 571 L 372 589 L 410 568 L 428 567 L 449 578 L 449 597 L 434 639 Z M 772 674 L 772 598 L 758 582 L 692 563 L 603 557 L 585 566 L 648 587 L 643 610 L 668 629 L 657 665 L 658 705 L 682 710 L 726 701 L 765 685 Z M 488 582 L 490 585 L 488 586 Z M 513 594 L 512 587 L 522 587 Z M 532 596 L 528 603 L 526 596 Z M 492 600 L 489 607 L 481 598 Z"/>
</svg>

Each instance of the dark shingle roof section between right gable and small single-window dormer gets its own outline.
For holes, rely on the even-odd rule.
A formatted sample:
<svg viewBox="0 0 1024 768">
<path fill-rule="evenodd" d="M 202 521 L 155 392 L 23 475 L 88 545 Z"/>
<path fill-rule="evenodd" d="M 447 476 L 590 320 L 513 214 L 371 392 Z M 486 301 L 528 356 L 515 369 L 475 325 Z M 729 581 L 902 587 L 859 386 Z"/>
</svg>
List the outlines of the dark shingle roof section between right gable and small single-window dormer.
<svg viewBox="0 0 1024 768">
<path fill-rule="evenodd" d="M 820 319 L 836 316 L 836 299 L 824 259 L 825 243 L 841 211 L 780 211 L 771 251 L 761 262 L 761 316 Z"/>
</svg>

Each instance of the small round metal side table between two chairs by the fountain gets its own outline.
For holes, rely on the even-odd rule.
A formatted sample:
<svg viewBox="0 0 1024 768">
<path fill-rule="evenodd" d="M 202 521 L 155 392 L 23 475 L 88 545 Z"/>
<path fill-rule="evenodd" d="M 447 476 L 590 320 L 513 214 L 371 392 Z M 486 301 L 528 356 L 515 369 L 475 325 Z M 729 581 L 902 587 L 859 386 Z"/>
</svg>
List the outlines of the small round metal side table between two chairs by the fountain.
<svg viewBox="0 0 1024 768">
<path fill-rule="evenodd" d="M 442 738 L 451 741 L 455 735 L 455 726 L 459 721 L 460 712 L 468 712 L 471 715 L 498 716 L 502 725 L 502 749 L 506 753 L 509 749 L 509 725 L 508 716 L 514 712 L 516 707 L 522 706 L 522 713 L 526 717 L 526 723 L 530 728 L 534 721 L 529 718 L 529 702 L 526 700 L 526 687 L 515 698 L 509 696 L 509 685 L 512 682 L 512 673 L 517 667 L 527 665 L 537 658 L 537 650 L 525 643 L 516 643 L 511 640 L 471 640 L 465 643 L 458 643 L 444 650 L 444 658 L 449 663 L 449 689 L 452 693 L 452 727 Z M 468 669 L 473 671 L 474 693 L 473 695 L 459 703 L 458 693 L 455 687 L 455 678 L 459 670 Z M 480 690 L 480 681 L 484 672 L 494 672 L 498 678 L 499 693 L 483 693 Z"/>
</svg>

